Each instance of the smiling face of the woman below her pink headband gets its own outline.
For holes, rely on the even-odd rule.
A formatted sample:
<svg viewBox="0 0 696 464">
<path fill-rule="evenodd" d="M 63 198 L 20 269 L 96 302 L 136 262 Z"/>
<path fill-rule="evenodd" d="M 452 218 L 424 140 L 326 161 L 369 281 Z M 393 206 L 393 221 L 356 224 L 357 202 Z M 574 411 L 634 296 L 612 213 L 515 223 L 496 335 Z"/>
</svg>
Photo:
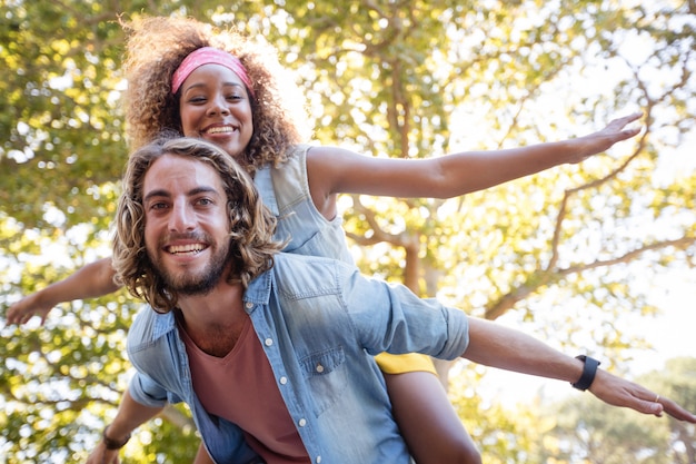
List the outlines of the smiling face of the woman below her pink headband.
<svg viewBox="0 0 696 464">
<path fill-rule="evenodd" d="M 253 121 L 247 89 L 232 70 L 203 65 L 181 85 L 179 116 L 183 135 L 201 138 L 233 158 L 245 151 Z"/>
</svg>

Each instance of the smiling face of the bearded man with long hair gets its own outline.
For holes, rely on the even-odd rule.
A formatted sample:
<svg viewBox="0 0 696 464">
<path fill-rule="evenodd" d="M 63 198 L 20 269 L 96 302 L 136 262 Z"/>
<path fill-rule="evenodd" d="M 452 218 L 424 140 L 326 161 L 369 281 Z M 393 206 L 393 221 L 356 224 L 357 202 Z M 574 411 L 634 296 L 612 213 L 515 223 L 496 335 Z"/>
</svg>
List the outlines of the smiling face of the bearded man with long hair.
<svg viewBox="0 0 696 464">
<path fill-rule="evenodd" d="M 165 155 L 143 181 L 145 243 L 169 290 L 210 292 L 229 253 L 227 196 L 220 176 L 201 161 Z"/>
</svg>

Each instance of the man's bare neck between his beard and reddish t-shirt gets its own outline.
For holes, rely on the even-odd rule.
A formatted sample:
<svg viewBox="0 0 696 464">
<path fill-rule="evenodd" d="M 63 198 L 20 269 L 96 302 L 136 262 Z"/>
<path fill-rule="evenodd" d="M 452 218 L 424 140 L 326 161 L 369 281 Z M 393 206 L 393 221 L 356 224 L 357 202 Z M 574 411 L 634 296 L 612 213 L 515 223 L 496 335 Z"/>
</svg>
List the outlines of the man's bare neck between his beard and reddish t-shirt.
<svg viewBox="0 0 696 464">
<path fill-rule="evenodd" d="M 203 352 L 225 357 L 237 344 L 247 322 L 241 284 L 220 284 L 202 296 L 179 298 L 181 326 Z"/>
</svg>

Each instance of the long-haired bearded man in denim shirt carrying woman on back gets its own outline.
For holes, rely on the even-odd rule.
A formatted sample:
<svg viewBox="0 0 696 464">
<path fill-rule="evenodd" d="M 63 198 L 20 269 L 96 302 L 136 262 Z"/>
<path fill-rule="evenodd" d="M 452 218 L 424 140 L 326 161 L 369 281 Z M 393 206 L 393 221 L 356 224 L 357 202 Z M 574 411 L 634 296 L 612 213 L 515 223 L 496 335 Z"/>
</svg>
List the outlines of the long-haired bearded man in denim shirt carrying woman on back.
<svg viewBox="0 0 696 464">
<path fill-rule="evenodd" d="M 696 416 L 524 334 L 467 318 L 344 263 L 279 253 L 248 175 L 197 139 L 128 161 L 113 266 L 151 306 L 128 335 L 138 373 L 89 463 L 185 401 L 220 463 L 408 463 L 372 355 L 420 352 L 571 382 L 645 414 Z"/>
</svg>

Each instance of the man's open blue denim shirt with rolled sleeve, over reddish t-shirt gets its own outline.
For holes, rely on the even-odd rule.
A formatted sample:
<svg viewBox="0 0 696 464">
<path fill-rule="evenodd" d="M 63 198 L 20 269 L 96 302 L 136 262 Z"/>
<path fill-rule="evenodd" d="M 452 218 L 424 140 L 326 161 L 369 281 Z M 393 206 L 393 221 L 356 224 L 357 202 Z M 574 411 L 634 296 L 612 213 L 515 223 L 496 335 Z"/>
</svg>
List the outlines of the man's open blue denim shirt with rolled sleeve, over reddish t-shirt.
<svg viewBox="0 0 696 464">
<path fill-rule="evenodd" d="M 337 260 L 279 254 L 247 289 L 245 307 L 314 463 L 408 463 L 384 377 L 372 356 L 419 352 L 455 359 L 468 345 L 466 315 Z M 186 402 L 217 463 L 257 463 L 241 431 L 209 415 L 191 385 L 172 313 L 142 310 L 128 335 L 138 403 Z M 235 394 L 235 386 L 229 386 Z"/>
</svg>

